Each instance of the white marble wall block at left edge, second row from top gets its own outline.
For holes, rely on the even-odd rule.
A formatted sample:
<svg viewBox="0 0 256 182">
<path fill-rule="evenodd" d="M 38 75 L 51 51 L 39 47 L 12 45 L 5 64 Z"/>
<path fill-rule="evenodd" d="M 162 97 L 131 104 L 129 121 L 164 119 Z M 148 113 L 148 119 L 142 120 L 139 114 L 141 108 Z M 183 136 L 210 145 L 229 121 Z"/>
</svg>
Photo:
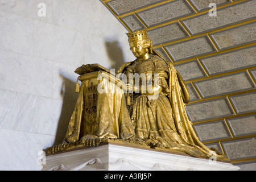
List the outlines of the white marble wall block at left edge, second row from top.
<svg viewBox="0 0 256 182">
<path fill-rule="evenodd" d="M 33 20 L 0 11 L 0 49 L 33 55 Z"/>
</svg>

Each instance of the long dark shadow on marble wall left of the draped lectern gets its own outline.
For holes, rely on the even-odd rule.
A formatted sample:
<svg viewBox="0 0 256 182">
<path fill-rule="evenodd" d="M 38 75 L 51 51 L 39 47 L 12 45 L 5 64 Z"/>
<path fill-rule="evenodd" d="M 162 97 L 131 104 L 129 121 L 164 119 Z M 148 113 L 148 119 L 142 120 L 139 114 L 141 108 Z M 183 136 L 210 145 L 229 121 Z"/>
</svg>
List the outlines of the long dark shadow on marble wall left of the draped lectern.
<svg viewBox="0 0 256 182">
<path fill-rule="evenodd" d="M 63 96 L 63 104 L 53 145 L 63 142 L 68 129 L 69 120 L 71 119 L 73 110 L 75 110 L 76 101 L 79 96 L 79 94 L 75 92 L 76 83 L 62 75 L 60 76 L 63 78 L 63 84 L 60 90 L 60 94 Z"/>
</svg>

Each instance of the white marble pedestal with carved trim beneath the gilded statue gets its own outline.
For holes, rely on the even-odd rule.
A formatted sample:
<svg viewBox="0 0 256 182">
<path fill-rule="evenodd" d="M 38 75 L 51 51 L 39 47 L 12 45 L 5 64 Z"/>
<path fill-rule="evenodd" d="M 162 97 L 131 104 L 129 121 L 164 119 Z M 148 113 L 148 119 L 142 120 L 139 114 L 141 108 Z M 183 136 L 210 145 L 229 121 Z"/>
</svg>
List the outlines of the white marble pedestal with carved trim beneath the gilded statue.
<svg viewBox="0 0 256 182">
<path fill-rule="evenodd" d="M 228 162 L 193 158 L 181 152 L 149 147 L 106 143 L 97 147 L 81 147 L 46 156 L 43 171 L 224 171 L 238 170 Z"/>
</svg>

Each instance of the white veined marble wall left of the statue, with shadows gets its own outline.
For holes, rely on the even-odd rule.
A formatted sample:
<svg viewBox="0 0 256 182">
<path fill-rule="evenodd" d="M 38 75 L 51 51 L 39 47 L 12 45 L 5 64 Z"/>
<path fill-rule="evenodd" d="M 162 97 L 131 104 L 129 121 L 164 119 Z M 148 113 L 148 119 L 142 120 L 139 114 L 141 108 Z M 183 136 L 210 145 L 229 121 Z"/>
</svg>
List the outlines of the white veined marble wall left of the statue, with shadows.
<svg viewBox="0 0 256 182">
<path fill-rule="evenodd" d="M 133 60 L 125 32 L 100 1 L 0 0 L 0 170 L 42 168 L 75 108 L 75 69 Z"/>
</svg>

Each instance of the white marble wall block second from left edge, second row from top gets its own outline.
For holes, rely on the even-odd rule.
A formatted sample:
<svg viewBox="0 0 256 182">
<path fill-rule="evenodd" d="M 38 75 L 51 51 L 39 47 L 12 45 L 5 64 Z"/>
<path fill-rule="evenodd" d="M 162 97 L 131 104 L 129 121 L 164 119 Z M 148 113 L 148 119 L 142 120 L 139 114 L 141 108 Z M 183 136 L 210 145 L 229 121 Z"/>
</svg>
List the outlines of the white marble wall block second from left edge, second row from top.
<svg viewBox="0 0 256 182">
<path fill-rule="evenodd" d="M 34 56 L 70 65 L 84 63 L 84 35 L 35 20 Z"/>
</svg>

